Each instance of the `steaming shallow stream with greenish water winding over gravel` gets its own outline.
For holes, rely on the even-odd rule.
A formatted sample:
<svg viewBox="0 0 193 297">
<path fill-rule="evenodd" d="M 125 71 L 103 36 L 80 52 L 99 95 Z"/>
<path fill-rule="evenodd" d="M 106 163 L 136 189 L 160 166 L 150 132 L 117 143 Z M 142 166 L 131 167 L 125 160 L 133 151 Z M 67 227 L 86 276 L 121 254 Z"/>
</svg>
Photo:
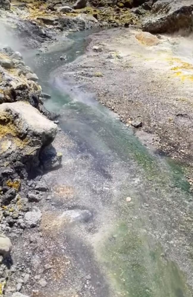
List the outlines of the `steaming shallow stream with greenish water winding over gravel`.
<svg viewBox="0 0 193 297">
<path fill-rule="evenodd" d="M 186 169 L 142 145 L 73 73 L 60 71 L 85 53 L 89 34 L 72 33 L 57 49 L 24 55 L 51 95 L 45 107 L 60 113 L 54 146 L 63 161 L 43 177 L 53 203 L 42 206 L 43 222 L 52 224 L 42 226 L 48 252 L 41 259 L 51 259 L 58 273 L 48 272 L 42 293 L 190 297 L 192 194 Z M 63 55 L 66 61 L 59 59 Z M 92 217 L 67 224 L 59 219 L 66 210 L 87 210 Z"/>
</svg>

